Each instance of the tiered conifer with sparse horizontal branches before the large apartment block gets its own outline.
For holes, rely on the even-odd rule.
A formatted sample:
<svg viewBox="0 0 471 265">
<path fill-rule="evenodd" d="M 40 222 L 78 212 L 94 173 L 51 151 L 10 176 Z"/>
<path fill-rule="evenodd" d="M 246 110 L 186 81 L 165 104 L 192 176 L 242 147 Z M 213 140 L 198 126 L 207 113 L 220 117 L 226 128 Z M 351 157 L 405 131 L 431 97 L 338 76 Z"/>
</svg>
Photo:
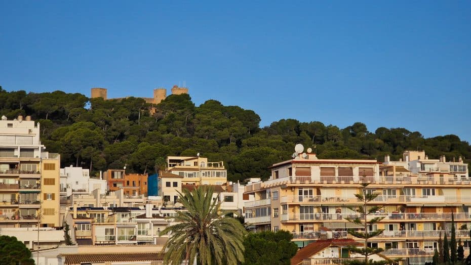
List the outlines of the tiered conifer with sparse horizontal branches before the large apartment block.
<svg viewBox="0 0 471 265">
<path fill-rule="evenodd" d="M 382 220 L 384 217 L 374 217 L 368 220 L 368 214 L 375 213 L 379 209 L 381 209 L 381 206 L 368 206 L 368 203 L 372 200 L 374 200 L 378 194 L 374 193 L 367 193 L 366 192 L 366 187 L 368 187 L 368 183 L 362 184 L 362 193 L 360 194 L 355 194 L 355 197 L 358 198 L 359 201 L 361 201 L 363 204 L 359 207 L 349 207 L 352 211 L 356 211 L 357 213 L 360 213 L 360 217 L 356 218 L 345 218 L 349 222 L 355 223 L 359 225 L 360 227 L 364 228 L 364 232 L 361 231 L 355 231 L 354 229 L 348 229 L 348 234 L 361 238 L 364 240 L 365 247 L 364 248 L 358 248 L 356 246 L 349 246 L 348 250 L 350 252 L 354 253 L 359 253 L 362 256 L 365 256 L 364 261 L 358 261 L 358 260 L 352 260 L 351 262 L 347 261 L 346 264 L 355 264 L 355 265 L 360 265 L 360 264 L 368 264 L 368 265 L 381 265 L 381 264 L 390 264 L 393 263 L 395 260 L 387 259 L 386 260 L 381 260 L 381 261 L 373 261 L 369 260 L 368 256 L 374 255 L 381 253 L 383 249 L 381 248 L 375 248 L 375 247 L 368 247 L 368 239 L 372 237 L 376 237 L 380 235 L 384 229 L 378 229 L 376 231 L 370 231 L 369 227 L 371 225 L 374 225 L 378 223 L 380 220 Z"/>
</svg>

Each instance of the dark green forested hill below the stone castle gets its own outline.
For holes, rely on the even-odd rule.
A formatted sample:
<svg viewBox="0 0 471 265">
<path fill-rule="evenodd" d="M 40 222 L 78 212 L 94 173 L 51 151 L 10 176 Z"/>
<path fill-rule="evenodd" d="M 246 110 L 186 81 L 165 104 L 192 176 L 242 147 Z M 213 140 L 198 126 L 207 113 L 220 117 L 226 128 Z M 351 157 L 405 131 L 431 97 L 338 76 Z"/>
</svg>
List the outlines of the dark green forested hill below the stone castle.
<svg viewBox="0 0 471 265">
<path fill-rule="evenodd" d="M 189 95 L 171 95 L 154 105 L 142 99 L 88 99 L 82 94 L 6 92 L 0 87 L 0 116 L 31 115 L 41 123 L 42 142 L 61 154 L 62 166 L 154 172 L 167 155 L 224 161 L 231 181 L 269 176 L 267 167 L 291 159 L 294 146 L 311 147 L 320 158 L 402 157 L 404 150 L 425 150 L 429 158 L 462 156 L 469 163 L 471 146 L 455 135 L 423 138 L 405 128 L 368 131 L 364 123 L 339 128 L 319 121 L 282 119 L 260 128 L 252 110 L 208 100 L 195 106 Z M 316 117 L 312 117 L 316 119 Z M 335 122 L 335 121 L 333 121 Z M 160 159 L 159 159 L 160 158 Z"/>
</svg>

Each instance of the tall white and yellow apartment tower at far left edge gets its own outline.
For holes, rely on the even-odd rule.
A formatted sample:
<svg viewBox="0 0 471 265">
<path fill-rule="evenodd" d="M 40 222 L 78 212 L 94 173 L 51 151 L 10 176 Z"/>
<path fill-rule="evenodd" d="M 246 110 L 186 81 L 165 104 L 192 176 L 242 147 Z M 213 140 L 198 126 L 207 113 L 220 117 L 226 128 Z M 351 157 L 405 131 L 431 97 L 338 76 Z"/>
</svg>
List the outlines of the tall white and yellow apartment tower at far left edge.
<svg viewBox="0 0 471 265">
<path fill-rule="evenodd" d="M 29 116 L 0 120 L 0 228 L 59 227 L 60 156 Z M 4 234 L 4 233 L 2 233 Z"/>
</svg>

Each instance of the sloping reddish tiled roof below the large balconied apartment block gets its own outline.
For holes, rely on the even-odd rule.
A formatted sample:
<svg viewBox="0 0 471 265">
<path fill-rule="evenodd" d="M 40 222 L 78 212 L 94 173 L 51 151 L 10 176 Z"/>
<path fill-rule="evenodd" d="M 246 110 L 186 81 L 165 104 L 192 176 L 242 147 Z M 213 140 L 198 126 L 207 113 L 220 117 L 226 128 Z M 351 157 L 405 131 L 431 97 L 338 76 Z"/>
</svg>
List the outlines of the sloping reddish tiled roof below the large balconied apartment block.
<svg viewBox="0 0 471 265">
<path fill-rule="evenodd" d="M 310 256 L 319 253 L 327 247 L 350 245 L 363 246 L 362 243 L 357 242 L 353 239 L 320 239 L 298 250 L 298 252 L 296 252 L 296 255 L 291 258 L 291 265 L 298 265 L 302 262 L 303 259 L 309 258 Z"/>
</svg>

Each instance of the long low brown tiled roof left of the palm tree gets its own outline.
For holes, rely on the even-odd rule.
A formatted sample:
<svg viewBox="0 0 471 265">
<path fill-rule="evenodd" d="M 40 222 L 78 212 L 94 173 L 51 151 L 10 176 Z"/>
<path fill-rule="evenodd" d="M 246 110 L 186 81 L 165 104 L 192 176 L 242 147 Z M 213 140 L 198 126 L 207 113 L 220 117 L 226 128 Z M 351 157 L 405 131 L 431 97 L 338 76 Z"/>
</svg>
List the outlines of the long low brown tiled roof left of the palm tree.
<svg viewBox="0 0 471 265">
<path fill-rule="evenodd" d="M 154 261 L 164 260 L 162 253 L 103 253 L 103 254 L 64 254 L 65 264 L 108 261 Z"/>
</svg>

